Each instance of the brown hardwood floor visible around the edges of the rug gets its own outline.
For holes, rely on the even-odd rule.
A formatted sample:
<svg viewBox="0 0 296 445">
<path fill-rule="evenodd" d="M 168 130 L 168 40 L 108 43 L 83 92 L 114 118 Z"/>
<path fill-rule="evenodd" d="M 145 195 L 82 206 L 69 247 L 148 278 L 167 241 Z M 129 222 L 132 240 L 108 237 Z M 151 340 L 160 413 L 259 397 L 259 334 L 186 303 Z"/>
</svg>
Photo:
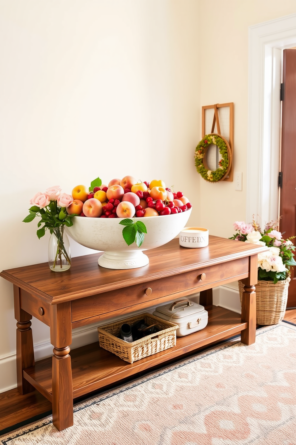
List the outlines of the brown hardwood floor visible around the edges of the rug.
<svg viewBox="0 0 296 445">
<path fill-rule="evenodd" d="M 296 324 L 296 309 L 287 310 L 284 320 Z M 179 359 L 180 357 L 178 357 L 178 360 Z M 144 374 L 144 372 L 142 374 Z M 142 374 L 138 373 L 138 375 L 132 376 L 132 379 Z M 121 383 L 127 380 L 131 379 L 122 380 Z M 102 388 L 102 390 L 106 389 L 107 388 Z M 91 396 L 91 393 L 87 396 Z M 86 396 L 80 399 L 77 398 L 74 402 L 83 400 L 83 398 L 86 398 Z M 17 389 L 11 389 L 0 394 L 0 434 L 7 433 L 8 431 L 16 429 L 16 427 L 26 425 L 49 414 L 51 414 L 51 403 L 38 391 L 30 392 L 22 396 Z"/>
</svg>

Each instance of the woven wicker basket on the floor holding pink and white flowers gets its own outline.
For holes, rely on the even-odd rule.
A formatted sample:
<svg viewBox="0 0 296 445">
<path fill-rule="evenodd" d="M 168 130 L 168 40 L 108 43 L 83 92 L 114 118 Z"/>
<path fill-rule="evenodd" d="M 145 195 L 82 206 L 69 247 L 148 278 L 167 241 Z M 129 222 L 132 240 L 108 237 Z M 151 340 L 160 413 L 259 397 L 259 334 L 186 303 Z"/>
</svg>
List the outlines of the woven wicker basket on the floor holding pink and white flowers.
<svg viewBox="0 0 296 445">
<path fill-rule="evenodd" d="M 256 284 L 256 320 L 257 324 L 277 324 L 283 320 L 287 306 L 290 278 L 278 281 L 258 281 Z M 239 281 L 240 298 L 244 284 Z"/>
</svg>

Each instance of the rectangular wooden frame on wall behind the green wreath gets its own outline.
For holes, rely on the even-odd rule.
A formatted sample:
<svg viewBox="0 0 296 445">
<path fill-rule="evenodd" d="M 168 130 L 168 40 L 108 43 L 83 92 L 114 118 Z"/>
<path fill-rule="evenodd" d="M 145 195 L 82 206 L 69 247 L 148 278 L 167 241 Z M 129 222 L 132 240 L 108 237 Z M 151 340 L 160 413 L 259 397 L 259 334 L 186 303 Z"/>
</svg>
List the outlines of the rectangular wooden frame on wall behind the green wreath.
<svg viewBox="0 0 296 445">
<path fill-rule="evenodd" d="M 223 138 L 225 138 L 227 140 L 227 142 L 229 143 L 230 146 L 230 150 L 231 150 L 231 155 L 232 155 L 232 160 L 233 160 L 233 102 L 229 102 L 227 104 L 216 104 L 217 106 L 217 111 L 219 113 L 219 109 L 221 109 L 221 113 L 219 113 L 219 121 L 220 121 L 220 131 L 221 131 L 221 136 L 223 136 Z M 226 107 L 229 108 L 229 119 L 223 119 L 221 118 L 221 114 L 222 114 L 222 109 L 225 109 L 225 111 L 223 112 L 225 114 L 226 117 Z M 213 113 L 211 112 L 209 115 L 209 118 L 207 118 L 206 116 L 206 110 L 210 110 L 213 109 Z M 218 132 L 217 129 L 217 122 L 215 122 L 215 105 L 205 105 L 202 107 L 202 113 L 201 113 L 201 131 L 202 131 L 202 138 L 206 135 L 206 134 L 210 134 L 210 133 L 217 133 L 220 134 Z M 228 113 L 227 113 L 227 117 L 228 117 Z M 225 120 L 225 122 L 224 122 Z M 221 125 L 222 123 L 222 125 Z M 211 126 L 210 126 L 211 125 Z M 216 131 L 215 131 L 216 129 Z M 223 179 L 223 181 L 233 181 L 233 163 L 230 167 L 229 173 L 228 175 L 225 177 L 225 179 Z"/>
</svg>

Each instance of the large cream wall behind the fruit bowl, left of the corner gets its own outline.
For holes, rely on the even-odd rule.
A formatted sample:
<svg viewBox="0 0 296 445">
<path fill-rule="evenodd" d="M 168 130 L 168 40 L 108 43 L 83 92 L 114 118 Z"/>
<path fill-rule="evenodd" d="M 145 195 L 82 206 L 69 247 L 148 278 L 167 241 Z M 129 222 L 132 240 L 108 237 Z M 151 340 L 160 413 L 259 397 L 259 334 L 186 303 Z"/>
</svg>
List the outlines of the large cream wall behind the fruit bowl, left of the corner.
<svg viewBox="0 0 296 445">
<path fill-rule="evenodd" d="M 190 197 L 198 223 L 198 17 L 194 0 L 0 0 L 0 270 L 47 261 L 48 234 L 38 240 L 37 223 L 21 221 L 55 184 L 71 193 L 98 175 L 163 178 Z M 4 279 L 0 295 L 1 392 L 16 385 Z M 48 328 L 32 327 L 40 349 Z"/>
</svg>

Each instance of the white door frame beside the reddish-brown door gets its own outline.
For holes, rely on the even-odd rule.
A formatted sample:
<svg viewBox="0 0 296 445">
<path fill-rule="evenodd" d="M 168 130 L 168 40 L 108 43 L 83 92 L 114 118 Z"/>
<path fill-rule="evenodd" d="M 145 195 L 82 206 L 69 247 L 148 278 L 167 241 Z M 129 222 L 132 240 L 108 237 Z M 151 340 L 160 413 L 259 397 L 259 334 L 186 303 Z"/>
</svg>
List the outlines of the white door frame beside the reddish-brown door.
<svg viewBox="0 0 296 445">
<path fill-rule="evenodd" d="M 278 216 L 281 53 L 296 46 L 296 14 L 249 27 L 246 221 Z"/>
</svg>

